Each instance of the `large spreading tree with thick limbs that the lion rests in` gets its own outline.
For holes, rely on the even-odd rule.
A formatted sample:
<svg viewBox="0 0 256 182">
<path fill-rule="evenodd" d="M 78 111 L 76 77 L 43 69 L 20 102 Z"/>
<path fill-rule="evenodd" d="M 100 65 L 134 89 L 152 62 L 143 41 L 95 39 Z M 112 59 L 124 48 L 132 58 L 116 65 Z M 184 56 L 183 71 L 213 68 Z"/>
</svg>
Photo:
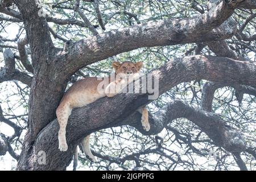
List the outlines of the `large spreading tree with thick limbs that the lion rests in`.
<svg viewBox="0 0 256 182">
<path fill-rule="evenodd" d="M 122 150 L 104 154 L 96 137 L 93 154 L 105 169 L 199 169 L 195 160 L 209 154 L 217 161 L 215 169 L 233 169 L 234 161 L 241 170 L 255 169 L 254 9 L 254 0 L 2 0 L 0 81 L 14 80 L 25 111 L 0 110 L 1 122 L 15 131 L 11 137 L 1 134 L 1 155 L 9 151 L 18 170 L 64 170 L 83 137 L 118 127 L 113 137 L 120 142 L 126 133 L 137 146 L 127 150 L 120 142 Z M 19 30 L 14 39 L 7 36 L 10 28 Z M 148 100 L 148 92 L 118 94 L 73 110 L 69 148 L 60 152 L 55 110 L 65 89 L 80 77 L 108 73 L 113 59 L 144 60 L 147 72 L 159 77 L 159 99 Z M 153 112 L 148 132 L 136 111 L 146 104 Z M 22 143 L 20 155 L 15 141 Z M 114 151 L 109 143 L 105 147 Z M 183 151 L 173 150 L 172 143 Z M 42 151 L 43 164 L 38 162 Z M 149 155 L 154 159 L 143 159 Z"/>
</svg>

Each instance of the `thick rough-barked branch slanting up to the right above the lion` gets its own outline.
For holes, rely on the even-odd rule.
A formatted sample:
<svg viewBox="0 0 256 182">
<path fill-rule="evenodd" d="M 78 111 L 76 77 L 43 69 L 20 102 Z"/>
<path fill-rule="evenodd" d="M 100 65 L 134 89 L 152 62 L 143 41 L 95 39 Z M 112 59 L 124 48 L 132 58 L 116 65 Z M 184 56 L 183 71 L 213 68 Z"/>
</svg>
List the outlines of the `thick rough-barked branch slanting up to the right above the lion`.
<svg viewBox="0 0 256 182">
<path fill-rule="evenodd" d="M 140 47 L 220 40 L 220 32 L 223 30 L 216 27 L 232 15 L 239 2 L 241 1 L 229 1 L 228 3 L 222 1 L 209 13 L 194 18 L 148 22 L 80 40 L 65 47 L 64 51 L 59 53 L 56 57 L 59 64 L 57 67 L 63 68 L 65 75 L 69 76 L 85 65 Z M 230 27 L 234 27 L 234 24 L 230 24 Z M 232 36 L 233 30 L 233 28 L 225 29 L 224 35 Z"/>
</svg>

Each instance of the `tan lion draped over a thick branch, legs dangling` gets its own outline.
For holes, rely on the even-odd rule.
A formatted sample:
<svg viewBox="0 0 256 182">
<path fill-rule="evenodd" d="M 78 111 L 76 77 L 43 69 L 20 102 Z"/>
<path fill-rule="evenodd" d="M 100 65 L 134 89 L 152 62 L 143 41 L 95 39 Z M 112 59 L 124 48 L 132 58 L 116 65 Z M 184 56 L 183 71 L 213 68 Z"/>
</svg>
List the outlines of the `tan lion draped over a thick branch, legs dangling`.
<svg viewBox="0 0 256 182">
<path fill-rule="evenodd" d="M 129 61 L 125 61 L 122 64 L 114 62 L 112 65 L 115 69 L 115 74 L 123 74 L 124 77 L 110 82 L 110 84 L 106 86 L 106 88 L 100 88 L 100 90 L 98 88 L 98 84 L 100 84 L 102 80 L 97 79 L 97 77 L 84 78 L 73 84 L 64 94 L 56 110 L 57 120 L 60 125 L 58 135 L 60 151 L 68 150 L 65 134 L 68 117 L 71 114 L 72 109 L 88 105 L 101 97 L 114 97 L 123 89 L 123 86 L 129 84 L 129 82 L 126 81 L 127 79 L 125 77 L 132 76 L 133 78 L 137 79 L 137 76 L 139 75 L 139 70 L 142 68 L 142 62 L 138 62 L 135 64 Z M 106 79 L 105 81 L 109 81 L 109 79 Z M 113 88 L 115 90 L 114 92 L 109 93 L 108 90 L 111 90 L 112 86 L 114 86 Z M 141 110 L 142 126 L 144 130 L 148 131 L 150 130 L 150 124 L 148 123 L 148 112 L 147 109 L 144 107 Z M 91 160 L 95 161 L 92 152 L 90 152 L 89 137 L 90 135 L 82 140 L 82 148 L 85 152 L 85 155 L 88 156 Z"/>
</svg>

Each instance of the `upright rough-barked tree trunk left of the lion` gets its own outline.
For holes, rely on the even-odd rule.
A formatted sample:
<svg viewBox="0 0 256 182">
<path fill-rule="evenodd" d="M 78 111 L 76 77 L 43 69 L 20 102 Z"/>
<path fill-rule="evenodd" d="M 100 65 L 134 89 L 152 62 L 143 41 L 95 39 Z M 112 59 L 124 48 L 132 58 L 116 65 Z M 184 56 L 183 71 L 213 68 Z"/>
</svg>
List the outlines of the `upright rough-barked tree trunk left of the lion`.
<svg viewBox="0 0 256 182">
<path fill-rule="evenodd" d="M 14 2 L 18 6 L 26 29 L 34 72 L 28 105 L 28 131 L 20 157 L 24 160 L 29 156 L 31 144 L 34 143 L 39 131 L 55 118 L 56 106 L 67 81 L 60 82 L 54 77 L 57 71 L 52 66 L 52 60 L 56 55 L 56 48 L 53 46 L 46 18 L 39 12 L 39 1 Z M 27 8 L 28 6 L 30 8 Z"/>
</svg>

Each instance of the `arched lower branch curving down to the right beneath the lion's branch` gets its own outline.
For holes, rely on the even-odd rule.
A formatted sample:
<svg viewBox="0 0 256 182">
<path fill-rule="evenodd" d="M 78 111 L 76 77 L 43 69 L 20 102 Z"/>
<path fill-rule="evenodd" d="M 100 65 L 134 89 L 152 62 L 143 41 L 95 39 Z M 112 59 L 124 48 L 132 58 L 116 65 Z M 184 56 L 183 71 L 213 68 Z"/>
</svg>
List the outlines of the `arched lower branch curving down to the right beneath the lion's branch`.
<svg viewBox="0 0 256 182">
<path fill-rule="evenodd" d="M 200 109 L 195 109 L 191 105 L 186 104 L 180 100 L 175 100 L 164 106 L 161 110 L 156 112 L 155 117 L 150 117 L 150 123 L 153 127 L 159 127 L 156 131 L 162 131 L 172 120 L 177 118 L 187 118 L 189 121 L 195 123 L 200 127 L 201 131 L 206 133 L 213 142 L 226 150 L 233 152 L 245 151 L 246 143 L 238 131 L 231 129 L 225 125 L 225 121 L 220 118 L 220 115 L 209 113 Z M 135 119 L 137 123 L 132 124 L 143 134 L 146 134 L 141 127 L 139 127 L 139 117 Z M 161 123 L 159 125 L 159 123 Z M 152 129 L 154 132 L 154 129 Z M 157 133 L 149 133 L 157 134 Z"/>
</svg>

